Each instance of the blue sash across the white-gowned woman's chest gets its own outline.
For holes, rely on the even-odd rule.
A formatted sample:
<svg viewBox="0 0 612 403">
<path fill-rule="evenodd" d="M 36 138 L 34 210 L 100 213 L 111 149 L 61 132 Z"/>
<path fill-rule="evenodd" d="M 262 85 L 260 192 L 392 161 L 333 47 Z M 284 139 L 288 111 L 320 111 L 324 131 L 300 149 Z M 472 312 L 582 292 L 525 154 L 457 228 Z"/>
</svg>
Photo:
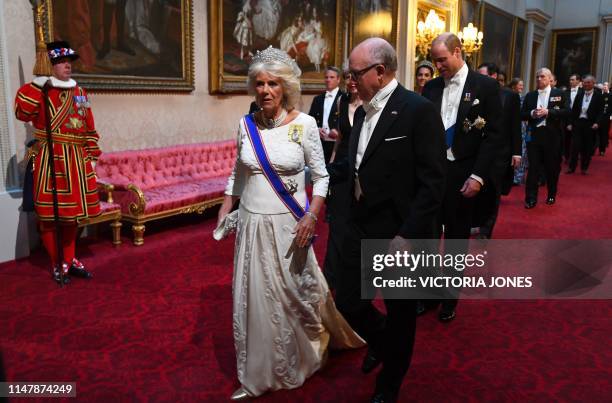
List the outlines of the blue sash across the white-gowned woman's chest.
<svg viewBox="0 0 612 403">
<path fill-rule="evenodd" d="M 255 151 L 255 156 L 257 157 L 257 161 L 261 166 L 264 176 L 270 183 L 270 186 L 272 186 L 272 189 L 274 189 L 274 192 L 278 198 L 285 206 L 287 206 L 291 214 L 293 214 L 296 221 L 300 221 L 306 212 L 295 197 L 293 197 L 293 195 L 287 191 L 285 184 L 281 180 L 280 176 L 278 176 L 278 172 L 272 168 L 272 164 L 270 164 L 270 159 L 268 158 L 268 153 L 266 152 L 266 147 L 261 140 L 259 129 L 257 129 L 257 125 L 255 124 L 252 114 L 244 116 L 244 126 L 247 129 L 247 135 L 251 141 L 251 146 Z M 306 199 L 306 210 L 308 210 L 308 198 Z"/>
</svg>

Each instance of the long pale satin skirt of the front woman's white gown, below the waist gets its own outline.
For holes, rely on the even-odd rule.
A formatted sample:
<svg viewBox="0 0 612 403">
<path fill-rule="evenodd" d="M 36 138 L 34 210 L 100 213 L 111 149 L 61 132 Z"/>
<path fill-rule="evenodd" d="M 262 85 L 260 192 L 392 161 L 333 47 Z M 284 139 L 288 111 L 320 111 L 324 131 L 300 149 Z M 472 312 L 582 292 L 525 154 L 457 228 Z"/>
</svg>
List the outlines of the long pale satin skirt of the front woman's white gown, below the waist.
<svg viewBox="0 0 612 403">
<path fill-rule="evenodd" d="M 364 345 L 336 310 L 312 246 L 292 246 L 294 226 L 291 214 L 240 209 L 233 327 L 238 379 L 252 396 L 301 386 L 328 346 Z"/>
</svg>

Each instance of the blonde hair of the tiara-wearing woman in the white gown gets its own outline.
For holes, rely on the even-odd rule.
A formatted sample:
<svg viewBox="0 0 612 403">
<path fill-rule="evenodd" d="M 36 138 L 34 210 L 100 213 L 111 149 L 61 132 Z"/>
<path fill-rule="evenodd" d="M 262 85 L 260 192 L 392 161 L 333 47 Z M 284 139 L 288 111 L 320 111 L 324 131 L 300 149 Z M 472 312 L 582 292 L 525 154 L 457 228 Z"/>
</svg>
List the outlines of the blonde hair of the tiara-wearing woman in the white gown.
<svg viewBox="0 0 612 403">
<path fill-rule="evenodd" d="M 299 68 L 297 66 L 289 66 L 281 61 L 266 61 L 254 62 L 249 66 L 247 86 L 249 94 L 255 95 L 255 86 L 257 85 L 257 75 L 259 73 L 268 73 L 281 81 L 283 88 L 282 106 L 287 111 L 292 111 L 300 102 L 301 84 Z M 296 74 L 299 73 L 299 74 Z"/>
</svg>

